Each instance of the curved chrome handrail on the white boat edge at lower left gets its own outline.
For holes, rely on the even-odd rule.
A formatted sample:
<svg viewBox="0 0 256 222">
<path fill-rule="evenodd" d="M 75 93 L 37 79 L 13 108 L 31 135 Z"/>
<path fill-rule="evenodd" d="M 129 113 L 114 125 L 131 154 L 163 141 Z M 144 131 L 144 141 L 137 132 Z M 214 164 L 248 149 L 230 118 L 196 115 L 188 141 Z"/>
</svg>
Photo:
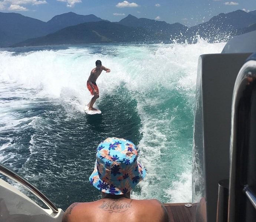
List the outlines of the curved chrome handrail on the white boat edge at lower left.
<svg viewBox="0 0 256 222">
<path fill-rule="evenodd" d="M 16 181 L 20 185 L 27 188 L 32 194 L 36 195 L 42 202 L 45 203 L 46 206 L 48 206 L 53 213 L 58 213 L 58 208 L 41 192 L 39 189 L 37 189 L 33 184 L 31 184 L 27 179 L 20 176 L 16 172 L 14 172 L 12 169 L 8 168 L 7 166 L 0 163 L 0 173 L 7 176 L 8 178 Z"/>
</svg>

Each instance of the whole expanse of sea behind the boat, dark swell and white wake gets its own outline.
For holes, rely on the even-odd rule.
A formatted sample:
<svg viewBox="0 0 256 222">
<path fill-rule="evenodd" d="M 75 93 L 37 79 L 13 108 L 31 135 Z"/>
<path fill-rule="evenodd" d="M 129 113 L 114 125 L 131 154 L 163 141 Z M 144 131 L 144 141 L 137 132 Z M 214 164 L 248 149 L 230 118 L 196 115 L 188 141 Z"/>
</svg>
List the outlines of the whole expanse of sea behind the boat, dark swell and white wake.
<svg viewBox="0 0 256 222">
<path fill-rule="evenodd" d="M 95 201 L 97 145 L 130 139 L 147 176 L 132 198 L 191 202 L 197 61 L 225 43 L 90 44 L 0 49 L 0 162 L 59 208 Z M 95 61 L 101 115 L 87 115 Z"/>
</svg>

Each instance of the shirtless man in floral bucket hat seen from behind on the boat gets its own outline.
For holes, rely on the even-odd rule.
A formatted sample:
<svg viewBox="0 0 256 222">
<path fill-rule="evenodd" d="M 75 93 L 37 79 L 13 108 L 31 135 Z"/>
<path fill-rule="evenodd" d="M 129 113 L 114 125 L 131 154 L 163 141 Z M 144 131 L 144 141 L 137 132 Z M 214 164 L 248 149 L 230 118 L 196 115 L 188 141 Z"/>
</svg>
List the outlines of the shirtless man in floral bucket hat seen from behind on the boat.
<svg viewBox="0 0 256 222">
<path fill-rule="evenodd" d="M 107 138 L 96 150 L 94 171 L 89 177 L 102 198 L 72 203 L 62 222 L 169 222 L 168 213 L 156 199 L 135 200 L 131 190 L 145 177 L 137 161 L 135 145 L 126 139 Z"/>
</svg>

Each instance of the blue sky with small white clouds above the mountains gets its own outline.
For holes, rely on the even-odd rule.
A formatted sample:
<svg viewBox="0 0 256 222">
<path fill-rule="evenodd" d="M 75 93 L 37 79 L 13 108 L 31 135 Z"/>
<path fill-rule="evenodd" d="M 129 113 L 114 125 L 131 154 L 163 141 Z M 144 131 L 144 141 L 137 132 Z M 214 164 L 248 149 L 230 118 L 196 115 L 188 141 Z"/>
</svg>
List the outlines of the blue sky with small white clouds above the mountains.
<svg viewBox="0 0 256 222">
<path fill-rule="evenodd" d="M 94 14 L 101 19 L 120 21 L 132 14 L 137 18 L 188 27 L 209 21 L 220 13 L 256 10 L 256 0 L 0 0 L 0 12 L 15 12 L 42 21 L 72 11 Z"/>
</svg>

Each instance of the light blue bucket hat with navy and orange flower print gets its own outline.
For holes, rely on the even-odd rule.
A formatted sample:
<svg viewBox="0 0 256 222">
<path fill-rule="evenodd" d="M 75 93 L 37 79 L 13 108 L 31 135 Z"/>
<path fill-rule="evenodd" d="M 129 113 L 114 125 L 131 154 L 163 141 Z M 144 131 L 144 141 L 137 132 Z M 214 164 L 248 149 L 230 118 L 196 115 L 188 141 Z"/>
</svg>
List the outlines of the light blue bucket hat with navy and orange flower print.
<svg viewBox="0 0 256 222">
<path fill-rule="evenodd" d="M 107 194 L 131 191 L 146 175 L 137 161 L 135 145 L 127 139 L 107 138 L 96 149 L 94 171 L 89 177 L 93 186 Z"/>
</svg>

